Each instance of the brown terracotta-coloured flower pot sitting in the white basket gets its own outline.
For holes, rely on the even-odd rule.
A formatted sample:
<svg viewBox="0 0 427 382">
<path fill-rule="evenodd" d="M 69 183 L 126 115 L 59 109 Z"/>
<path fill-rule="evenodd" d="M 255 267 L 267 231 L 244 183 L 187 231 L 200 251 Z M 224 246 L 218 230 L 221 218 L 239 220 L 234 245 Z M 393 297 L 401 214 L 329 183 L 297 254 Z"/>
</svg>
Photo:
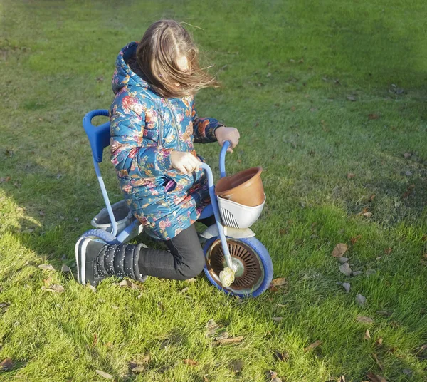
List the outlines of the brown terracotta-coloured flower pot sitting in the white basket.
<svg viewBox="0 0 427 382">
<path fill-rule="evenodd" d="M 252 167 L 223 177 L 216 183 L 215 195 L 249 207 L 262 205 L 265 195 L 261 172 L 262 167 Z"/>
</svg>

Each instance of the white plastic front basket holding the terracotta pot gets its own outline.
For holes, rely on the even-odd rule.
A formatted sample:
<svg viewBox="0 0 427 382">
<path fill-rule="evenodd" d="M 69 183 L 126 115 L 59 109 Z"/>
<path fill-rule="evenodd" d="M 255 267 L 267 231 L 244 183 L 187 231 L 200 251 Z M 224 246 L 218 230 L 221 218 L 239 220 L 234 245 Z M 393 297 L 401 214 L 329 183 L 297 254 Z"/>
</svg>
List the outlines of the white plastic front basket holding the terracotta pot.
<svg viewBox="0 0 427 382">
<path fill-rule="evenodd" d="M 264 194 L 263 204 L 255 207 L 240 205 L 222 197 L 217 197 L 216 199 L 218 200 L 219 212 L 221 213 L 223 224 L 227 227 L 243 229 L 251 227 L 258 220 L 261 212 L 263 212 L 266 197 Z"/>
</svg>

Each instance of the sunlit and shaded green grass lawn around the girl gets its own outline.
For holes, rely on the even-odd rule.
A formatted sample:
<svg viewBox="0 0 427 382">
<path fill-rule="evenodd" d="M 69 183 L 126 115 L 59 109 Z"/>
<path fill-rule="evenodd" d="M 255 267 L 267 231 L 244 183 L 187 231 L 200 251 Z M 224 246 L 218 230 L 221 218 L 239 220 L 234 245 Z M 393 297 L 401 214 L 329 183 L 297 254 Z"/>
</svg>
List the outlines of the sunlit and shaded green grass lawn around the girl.
<svg viewBox="0 0 427 382">
<path fill-rule="evenodd" d="M 115 381 L 263 382 L 270 369 L 287 382 L 367 381 L 368 372 L 426 381 L 425 1 L 0 7 L 0 303 L 10 304 L 0 309 L 0 361 L 14 362 L 0 381 L 103 380 L 96 369 Z M 241 130 L 229 172 L 265 169 L 268 203 L 253 229 L 285 289 L 240 303 L 201 276 L 194 284 L 150 278 L 142 290 L 109 279 L 94 294 L 38 268 L 73 268 L 75 240 L 102 207 L 81 119 L 108 108 L 118 51 L 162 17 L 202 28 L 188 26 L 223 87 L 201 91 L 199 115 Z M 217 145 L 199 153 L 217 170 Z M 120 200 L 108 161 L 102 170 Z M 371 217 L 359 215 L 364 208 Z M 330 255 L 339 242 L 349 244 L 352 269 L 375 273 L 340 274 Z M 65 292 L 43 291 L 48 277 Z M 350 282 L 349 294 L 337 282 Z M 356 294 L 366 296 L 363 308 Z M 213 346 L 209 319 L 243 342 Z M 130 373 L 128 363 L 146 355 L 145 370 Z"/>
</svg>

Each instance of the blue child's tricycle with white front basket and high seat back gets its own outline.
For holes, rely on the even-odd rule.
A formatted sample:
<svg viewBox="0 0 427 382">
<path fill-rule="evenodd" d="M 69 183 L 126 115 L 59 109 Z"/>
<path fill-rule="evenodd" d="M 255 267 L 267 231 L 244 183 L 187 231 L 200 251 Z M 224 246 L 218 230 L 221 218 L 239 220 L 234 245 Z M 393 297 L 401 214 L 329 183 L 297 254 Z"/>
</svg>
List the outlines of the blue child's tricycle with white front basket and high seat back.
<svg viewBox="0 0 427 382">
<path fill-rule="evenodd" d="M 95 229 L 85 232 L 83 237 L 91 237 L 106 244 L 129 242 L 143 231 L 139 220 L 133 217 L 125 200 L 113 205 L 107 195 L 102 180 L 99 163 L 102 151 L 110 145 L 110 122 L 95 126 L 92 119 L 108 116 L 108 110 L 93 110 L 83 118 L 83 128 L 88 135 L 92 150 L 93 165 L 101 187 L 105 208 L 91 222 Z M 226 177 L 225 158 L 230 143 L 221 148 L 219 169 L 221 178 Z M 206 171 L 209 181 L 211 205 L 205 207 L 201 219 L 215 216 L 216 225 L 201 234 L 204 242 L 206 266 L 204 272 L 209 281 L 227 294 L 239 297 L 256 297 L 263 293 L 273 279 L 273 263 L 263 244 L 255 239 L 249 229 L 260 215 L 263 205 L 245 207 L 215 195 L 214 176 L 211 167 L 205 163 L 201 168 Z"/>
</svg>

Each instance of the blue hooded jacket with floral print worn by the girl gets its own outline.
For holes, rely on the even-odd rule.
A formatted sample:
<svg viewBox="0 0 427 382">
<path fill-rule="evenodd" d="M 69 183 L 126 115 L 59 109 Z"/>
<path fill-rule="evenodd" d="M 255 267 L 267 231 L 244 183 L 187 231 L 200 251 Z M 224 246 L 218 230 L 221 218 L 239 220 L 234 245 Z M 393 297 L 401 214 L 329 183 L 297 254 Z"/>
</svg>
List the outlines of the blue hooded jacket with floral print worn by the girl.
<svg viewBox="0 0 427 382">
<path fill-rule="evenodd" d="M 111 161 L 132 213 L 148 233 L 168 240 L 190 227 L 209 203 L 203 170 L 184 175 L 171 165 L 172 150 L 196 155 L 194 143 L 216 141 L 219 126 L 199 118 L 194 97 L 162 98 L 129 66 L 137 43 L 122 48 L 112 78 Z"/>
</svg>

